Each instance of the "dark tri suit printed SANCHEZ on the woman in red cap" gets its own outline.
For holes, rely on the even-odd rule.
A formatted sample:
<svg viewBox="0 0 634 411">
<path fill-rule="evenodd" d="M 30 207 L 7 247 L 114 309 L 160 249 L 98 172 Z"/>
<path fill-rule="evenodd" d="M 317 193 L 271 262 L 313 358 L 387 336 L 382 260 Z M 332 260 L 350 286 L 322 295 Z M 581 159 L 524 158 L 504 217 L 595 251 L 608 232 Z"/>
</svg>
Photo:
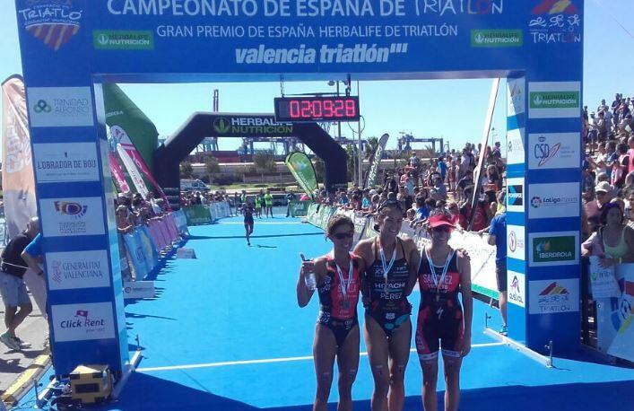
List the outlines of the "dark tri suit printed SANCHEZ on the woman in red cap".
<svg viewBox="0 0 634 411">
<path fill-rule="evenodd" d="M 427 249 L 421 254 L 418 269 L 421 307 L 416 326 L 416 351 L 421 361 L 438 358 L 440 348 L 444 356 L 460 358 L 465 325 L 458 301 L 460 272 L 456 250 L 449 252 L 445 267 L 431 267 Z"/>
</svg>

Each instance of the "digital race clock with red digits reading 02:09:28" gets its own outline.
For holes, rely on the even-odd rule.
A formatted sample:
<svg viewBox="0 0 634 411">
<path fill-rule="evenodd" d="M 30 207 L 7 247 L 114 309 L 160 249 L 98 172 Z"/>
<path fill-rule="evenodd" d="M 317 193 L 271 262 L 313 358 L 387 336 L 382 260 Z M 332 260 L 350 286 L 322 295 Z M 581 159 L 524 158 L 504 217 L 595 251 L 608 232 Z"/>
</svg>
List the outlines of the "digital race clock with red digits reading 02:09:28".
<svg viewBox="0 0 634 411">
<path fill-rule="evenodd" d="M 359 97 L 316 96 L 275 98 L 275 120 L 358 121 Z"/>
</svg>

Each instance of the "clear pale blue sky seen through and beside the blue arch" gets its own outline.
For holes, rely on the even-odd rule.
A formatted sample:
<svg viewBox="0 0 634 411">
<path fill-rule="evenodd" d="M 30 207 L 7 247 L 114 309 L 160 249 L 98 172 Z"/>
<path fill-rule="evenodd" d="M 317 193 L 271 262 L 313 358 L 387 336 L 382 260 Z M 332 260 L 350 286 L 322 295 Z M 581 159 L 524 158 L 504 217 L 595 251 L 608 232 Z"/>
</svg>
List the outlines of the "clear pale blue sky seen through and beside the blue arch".
<svg viewBox="0 0 634 411">
<path fill-rule="evenodd" d="M 13 0 L 3 2 L 0 81 L 11 74 L 22 73 L 15 5 Z M 585 104 L 590 108 L 595 108 L 602 98 L 612 99 L 615 92 L 634 96 L 632 12 L 634 0 L 586 0 L 584 95 Z M 211 111 L 213 89 L 220 90 L 221 111 L 271 112 L 273 98 L 280 95 L 279 83 L 126 84 L 123 88 L 154 121 L 161 136 L 173 133 L 192 112 Z M 395 137 L 401 131 L 419 137 L 442 136 L 453 148 L 465 142 L 477 143 L 482 136 L 490 89 L 491 80 L 361 83 L 361 110 L 366 118 L 363 136 L 389 133 L 392 138 L 388 148 L 395 146 Z M 332 90 L 326 83 L 285 84 L 286 93 Z M 497 107 L 493 121 L 495 140 L 503 140 L 505 88 L 500 89 Z M 351 126 L 356 130 L 355 123 Z M 352 136 L 346 124 L 342 134 Z M 221 141 L 221 149 L 235 149 L 239 144 L 236 140 L 225 140 Z M 422 148 L 422 145 L 414 147 Z"/>
</svg>

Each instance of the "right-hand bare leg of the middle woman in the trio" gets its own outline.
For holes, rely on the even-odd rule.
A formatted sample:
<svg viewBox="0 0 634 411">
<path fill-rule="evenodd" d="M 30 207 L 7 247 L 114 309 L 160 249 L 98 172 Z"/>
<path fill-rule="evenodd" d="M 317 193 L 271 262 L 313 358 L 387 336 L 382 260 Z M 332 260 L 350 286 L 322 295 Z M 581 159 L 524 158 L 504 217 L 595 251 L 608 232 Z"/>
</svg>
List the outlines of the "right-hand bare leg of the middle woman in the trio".
<svg viewBox="0 0 634 411">
<path fill-rule="evenodd" d="M 405 367 L 410 359 L 412 321 L 408 318 L 396 328 L 389 339 L 390 389 L 387 394 L 389 411 L 400 411 L 405 401 Z"/>
</svg>

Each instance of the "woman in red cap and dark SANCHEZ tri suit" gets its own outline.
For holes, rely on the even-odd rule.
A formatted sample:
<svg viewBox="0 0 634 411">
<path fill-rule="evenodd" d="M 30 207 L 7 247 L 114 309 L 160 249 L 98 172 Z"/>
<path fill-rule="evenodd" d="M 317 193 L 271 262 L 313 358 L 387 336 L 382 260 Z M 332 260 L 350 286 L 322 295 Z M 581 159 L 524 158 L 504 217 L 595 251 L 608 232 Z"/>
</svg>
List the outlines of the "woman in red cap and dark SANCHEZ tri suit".
<svg viewBox="0 0 634 411">
<path fill-rule="evenodd" d="M 471 267 L 462 251 L 447 244 L 454 229 L 447 215 L 431 216 L 429 227 L 431 245 L 423 247 L 418 268 L 421 306 L 415 338 L 422 368 L 422 405 L 426 411 L 438 409 L 436 385 L 442 349 L 445 410 L 455 411 L 460 400 L 460 366 L 471 351 Z M 464 314 L 458 292 L 462 293 Z"/>
</svg>

